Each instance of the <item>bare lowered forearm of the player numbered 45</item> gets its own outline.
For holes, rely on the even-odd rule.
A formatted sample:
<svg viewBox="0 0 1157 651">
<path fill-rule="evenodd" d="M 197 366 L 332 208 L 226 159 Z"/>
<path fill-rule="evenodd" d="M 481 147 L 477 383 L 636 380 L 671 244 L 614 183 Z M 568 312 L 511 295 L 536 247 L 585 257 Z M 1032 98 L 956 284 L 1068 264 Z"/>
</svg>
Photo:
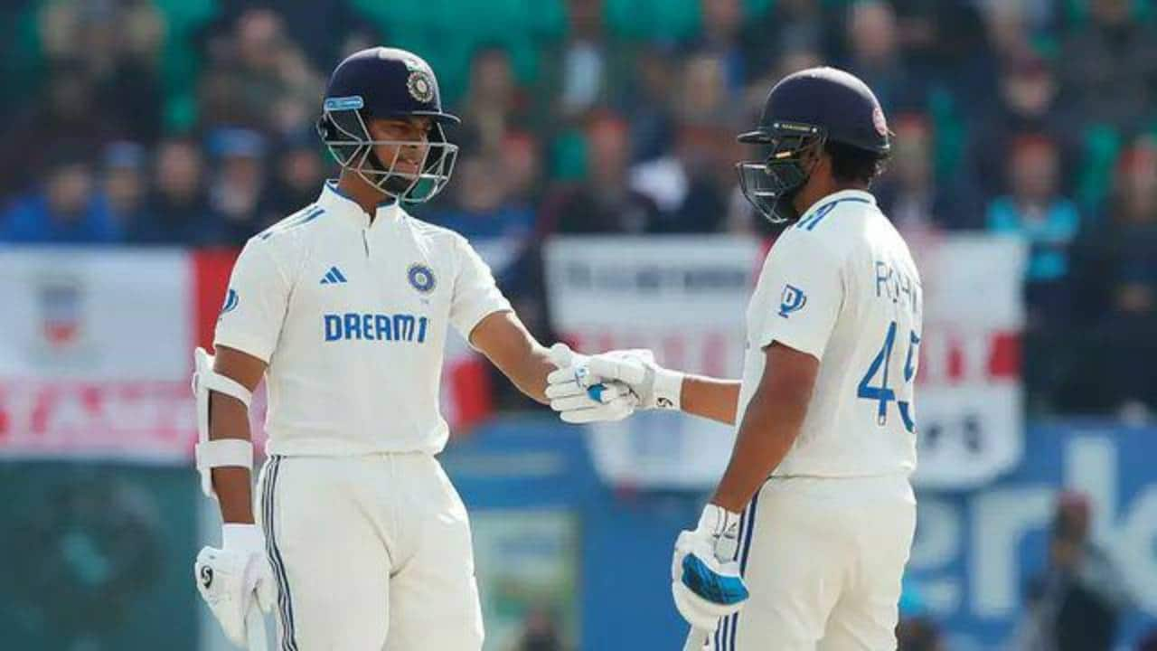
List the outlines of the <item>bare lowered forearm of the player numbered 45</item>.
<svg viewBox="0 0 1157 651">
<path fill-rule="evenodd" d="M 808 412 L 810 392 L 757 393 L 743 416 L 731 461 L 712 503 L 743 511 L 768 475 L 783 461 Z"/>
</svg>

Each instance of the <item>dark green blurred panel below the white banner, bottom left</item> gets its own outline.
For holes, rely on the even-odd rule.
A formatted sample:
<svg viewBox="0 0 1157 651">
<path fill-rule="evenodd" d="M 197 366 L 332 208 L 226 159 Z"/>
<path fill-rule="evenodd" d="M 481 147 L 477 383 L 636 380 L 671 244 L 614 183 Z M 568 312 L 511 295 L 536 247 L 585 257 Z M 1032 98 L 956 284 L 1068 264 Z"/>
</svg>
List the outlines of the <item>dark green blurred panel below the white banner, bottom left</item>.
<svg viewBox="0 0 1157 651">
<path fill-rule="evenodd" d="M 198 648 L 191 468 L 0 463 L 0 649 Z"/>
</svg>

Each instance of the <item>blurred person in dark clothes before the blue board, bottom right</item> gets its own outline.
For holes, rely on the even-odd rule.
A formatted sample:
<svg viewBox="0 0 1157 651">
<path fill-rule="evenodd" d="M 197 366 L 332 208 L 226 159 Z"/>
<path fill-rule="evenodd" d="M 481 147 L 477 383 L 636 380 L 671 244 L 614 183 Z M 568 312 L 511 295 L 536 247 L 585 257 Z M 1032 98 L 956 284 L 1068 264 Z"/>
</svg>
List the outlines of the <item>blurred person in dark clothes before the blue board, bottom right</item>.
<svg viewBox="0 0 1157 651">
<path fill-rule="evenodd" d="M 1029 586 L 1016 651 L 1110 651 L 1129 605 L 1125 577 L 1090 540 L 1089 498 L 1064 492 L 1056 503 L 1045 569 Z"/>
</svg>

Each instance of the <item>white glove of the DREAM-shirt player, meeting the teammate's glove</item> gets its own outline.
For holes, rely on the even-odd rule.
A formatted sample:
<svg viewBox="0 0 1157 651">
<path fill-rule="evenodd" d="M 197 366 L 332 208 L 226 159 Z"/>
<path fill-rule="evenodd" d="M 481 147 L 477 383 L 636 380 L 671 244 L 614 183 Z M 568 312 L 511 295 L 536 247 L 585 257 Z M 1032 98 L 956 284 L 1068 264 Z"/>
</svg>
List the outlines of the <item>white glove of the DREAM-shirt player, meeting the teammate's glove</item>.
<svg viewBox="0 0 1157 651">
<path fill-rule="evenodd" d="M 558 368 L 546 378 L 546 397 L 563 422 L 621 420 L 639 405 L 639 398 L 622 382 L 595 379 L 587 368 L 590 357 L 572 351 L 566 344 L 551 348 L 551 361 Z"/>
</svg>

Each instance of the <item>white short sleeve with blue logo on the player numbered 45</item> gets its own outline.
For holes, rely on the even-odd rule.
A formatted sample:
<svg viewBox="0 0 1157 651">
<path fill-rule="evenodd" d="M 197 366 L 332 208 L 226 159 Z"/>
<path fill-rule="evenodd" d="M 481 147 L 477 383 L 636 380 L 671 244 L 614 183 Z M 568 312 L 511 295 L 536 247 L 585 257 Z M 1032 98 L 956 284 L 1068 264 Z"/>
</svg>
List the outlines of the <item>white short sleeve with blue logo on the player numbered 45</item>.
<svg viewBox="0 0 1157 651">
<path fill-rule="evenodd" d="M 843 305 L 841 264 L 811 234 L 793 236 L 788 231 L 772 247 L 764 268 L 767 302 L 759 348 L 779 342 L 823 359 Z"/>
</svg>

